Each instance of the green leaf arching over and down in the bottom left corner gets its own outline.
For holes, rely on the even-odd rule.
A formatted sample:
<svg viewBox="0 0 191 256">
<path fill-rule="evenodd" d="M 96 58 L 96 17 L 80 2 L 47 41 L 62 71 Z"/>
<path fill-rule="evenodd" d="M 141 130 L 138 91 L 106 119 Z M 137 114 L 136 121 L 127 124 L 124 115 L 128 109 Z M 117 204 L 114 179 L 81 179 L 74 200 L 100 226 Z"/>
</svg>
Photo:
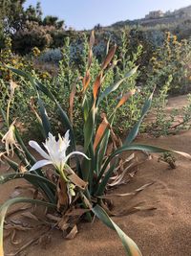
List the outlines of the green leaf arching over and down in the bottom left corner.
<svg viewBox="0 0 191 256">
<path fill-rule="evenodd" d="M 23 202 L 28 202 L 28 203 L 33 203 L 33 204 L 40 204 L 44 205 L 46 207 L 51 207 L 51 208 L 56 208 L 56 205 L 53 203 L 49 203 L 46 201 L 42 200 L 35 200 L 32 198 L 12 198 L 7 200 L 5 203 L 3 203 L 0 207 L 0 255 L 4 255 L 4 249 L 3 249 L 3 226 L 4 226 L 4 221 L 6 218 L 7 211 L 9 207 L 12 204 L 15 203 L 23 203 Z"/>
</svg>

